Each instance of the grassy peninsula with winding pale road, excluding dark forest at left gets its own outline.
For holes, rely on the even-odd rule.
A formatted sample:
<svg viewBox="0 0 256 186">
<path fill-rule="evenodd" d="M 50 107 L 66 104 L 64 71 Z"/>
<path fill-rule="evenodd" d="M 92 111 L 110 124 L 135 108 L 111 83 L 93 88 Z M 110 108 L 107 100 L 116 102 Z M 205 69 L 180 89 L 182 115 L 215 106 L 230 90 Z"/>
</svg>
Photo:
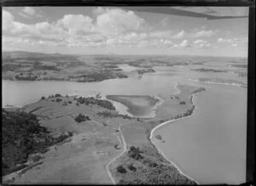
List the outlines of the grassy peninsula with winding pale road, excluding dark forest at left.
<svg viewBox="0 0 256 186">
<path fill-rule="evenodd" d="M 195 109 L 193 93 L 205 90 L 187 85 L 177 85 L 177 88 L 180 90 L 177 95 L 162 97 L 165 102 L 157 107 L 156 117 L 151 119 L 138 120 L 137 117 L 120 115 L 108 100 L 62 96 L 59 93 L 45 95 L 38 102 L 16 111 L 4 110 L 3 114 L 7 116 L 14 113 L 26 116 L 27 113 L 37 118 L 40 127 L 47 129 L 47 135 L 67 133 L 67 140 L 61 137 L 61 140 L 47 146 L 44 152 L 32 150 L 15 164 L 4 162 L 9 166 L 6 166 L 8 172 L 3 183 L 195 184 L 160 155 L 150 140 L 154 127 L 191 115 Z M 150 100 L 149 105 L 157 102 L 148 96 L 130 98 L 124 95 L 123 98 L 128 100 L 126 103 L 134 103 L 132 101 L 139 98 L 143 100 L 137 103 L 141 107 L 146 100 L 147 103 Z M 137 111 L 133 111 L 136 115 Z M 6 120 L 8 117 L 3 122 Z M 38 134 L 35 132 L 35 135 Z M 39 143 L 36 138 L 31 137 L 32 147 Z M 65 141 L 61 143 L 63 139 Z M 24 145 L 15 144 L 19 148 Z M 15 152 L 10 151 L 9 155 L 12 153 Z"/>
</svg>

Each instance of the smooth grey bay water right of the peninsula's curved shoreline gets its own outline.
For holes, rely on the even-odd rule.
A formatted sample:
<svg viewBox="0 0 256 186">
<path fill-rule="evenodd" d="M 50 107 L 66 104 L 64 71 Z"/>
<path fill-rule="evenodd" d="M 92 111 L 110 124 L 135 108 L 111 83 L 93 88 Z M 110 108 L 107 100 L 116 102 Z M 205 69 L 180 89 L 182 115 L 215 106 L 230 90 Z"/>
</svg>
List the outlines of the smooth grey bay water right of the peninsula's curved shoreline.
<svg viewBox="0 0 256 186">
<path fill-rule="evenodd" d="M 199 183 L 244 183 L 247 88 L 215 86 L 194 101 L 193 115 L 156 129 L 166 142 L 154 144 Z"/>
</svg>

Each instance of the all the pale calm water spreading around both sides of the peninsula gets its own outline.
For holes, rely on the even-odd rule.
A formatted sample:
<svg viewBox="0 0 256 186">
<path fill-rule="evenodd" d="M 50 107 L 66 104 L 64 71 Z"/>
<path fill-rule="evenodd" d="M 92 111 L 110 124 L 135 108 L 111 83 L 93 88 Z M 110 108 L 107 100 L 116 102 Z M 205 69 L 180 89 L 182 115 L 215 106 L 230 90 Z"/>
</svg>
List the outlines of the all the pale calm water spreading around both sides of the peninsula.
<svg viewBox="0 0 256 186">
<path fill-rule="evenodd" d="M 214 64 L 212 65 L 214 66 Z M 218 66 L 218 65 L 216 65 Z M 121 65 L 125 71 L 136 70 Z M 2 81 L 2 106 L 22 106 L 42 96 L 90 96 L 101 93 L 160 95 L 178 93 L 176 82 L 207 87 L 195 96 L 195 112 L 187 119 L 166 124 L 154 132 L 166 141 L 154 144 L 190 177 L 199 183 L 242 183 L 246 173 L 247 88 L 191 82 L 189 78 L 216 77 L 246 82 L 233 73 L 207 73 L 189 70 L 203 65 L 154 67 L 156 73 L 134 74 L 127 79 L 103 82 L 11 82 Z M 119 106 L 121 113 L 126 107 Z"/>
</svg>

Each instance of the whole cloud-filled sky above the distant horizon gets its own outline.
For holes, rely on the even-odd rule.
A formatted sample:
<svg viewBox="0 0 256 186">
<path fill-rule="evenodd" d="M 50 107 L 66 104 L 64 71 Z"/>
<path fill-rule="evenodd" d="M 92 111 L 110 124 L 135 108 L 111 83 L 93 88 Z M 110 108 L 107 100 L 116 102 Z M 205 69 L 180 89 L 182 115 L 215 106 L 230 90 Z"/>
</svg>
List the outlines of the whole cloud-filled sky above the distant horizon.
<svg viewBox="0 0 256 186">
<path fill-rule="evenodd" d="M 199 9 L 218 15 L 248 11 L 193 11 Z M 129 7 L 4 7 L 2 19 L 3 51 L 247 57 L 247 18 L 207 20 Z"/>
</svg>

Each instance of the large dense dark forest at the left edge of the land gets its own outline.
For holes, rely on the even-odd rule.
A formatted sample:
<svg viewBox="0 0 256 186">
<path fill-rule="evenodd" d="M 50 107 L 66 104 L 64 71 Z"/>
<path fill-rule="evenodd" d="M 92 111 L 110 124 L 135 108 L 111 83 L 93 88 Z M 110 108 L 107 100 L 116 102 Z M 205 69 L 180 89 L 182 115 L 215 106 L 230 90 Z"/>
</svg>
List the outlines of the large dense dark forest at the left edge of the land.
<svg viewBox="0 0 256 186">
<path fill-rule="evenodd" d="M 50 145 L 72 135 L 67 132 L 54 138 L 45 127 L 39 125 L 37 116 L 20 111 L 2 110 L 2 130 L 2 175 L 24 168 L 26 165 L 22 164 L 27 161 L 28 155 L 44 153 Z"/>
</svg>

